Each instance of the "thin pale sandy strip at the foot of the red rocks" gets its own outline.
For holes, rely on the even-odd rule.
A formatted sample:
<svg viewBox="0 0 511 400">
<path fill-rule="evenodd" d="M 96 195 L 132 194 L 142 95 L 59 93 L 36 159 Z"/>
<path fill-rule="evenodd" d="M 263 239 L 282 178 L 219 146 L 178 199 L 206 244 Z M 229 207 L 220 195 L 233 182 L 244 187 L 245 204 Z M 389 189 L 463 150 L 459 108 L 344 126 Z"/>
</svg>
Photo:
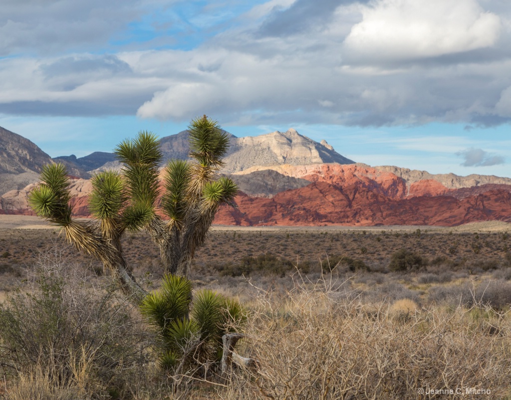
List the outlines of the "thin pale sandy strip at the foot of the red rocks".
<svg viewBox="0 0 511 400">
<path fill-rule="evenodd" d="M 0 215 L 0 230 L 2 229 L 56 229 L 55 226 L 48 224 L 38 217 L 24 215 Z M 414 231 L 417 229 L 437 231 L 437 232 L 499 232 L 511 231 L 511 224 L 500 221 L 473 222 L 460 226 L 424 226 L 424 225 L 389 225 L 389 226 L 233 226 L 233 225 L 213 225 L 213 230 L 238 230 L 238 231 L 353 231 L 353 230 L 398 230 Z M 0 233 L 1 235 L 1 233 Z"/>
</svg>

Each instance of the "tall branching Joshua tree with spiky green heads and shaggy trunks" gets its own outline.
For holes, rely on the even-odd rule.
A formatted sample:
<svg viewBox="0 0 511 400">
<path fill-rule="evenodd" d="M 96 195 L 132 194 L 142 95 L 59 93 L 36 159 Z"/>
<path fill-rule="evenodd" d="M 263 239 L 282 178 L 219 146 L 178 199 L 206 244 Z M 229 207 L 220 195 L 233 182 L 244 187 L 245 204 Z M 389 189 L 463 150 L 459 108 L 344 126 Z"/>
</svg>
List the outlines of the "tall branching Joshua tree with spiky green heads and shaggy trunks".
<svg viewBox="0 0 511 400">
<path fill-rule="evenodd" d="M 192 161 L 173 160 L 165 168 L 160 205 L 168 221 L 157 214 L 162 154 L 156 136 L 149 132 L 140 132 L 115 149 L 125 163 L 121 173 L 92 177 L 89 210 L 96 220 L 73 218 L 70 180 L 62 164 L 43 168 L 42 183 L 30 193 L 30 206 L 38 216 L 60 226 L 78 250 L 101 260 L 121 288 L 140 299 L 146 292 L 124 259 L 123 234 L 146 228 L 160 249 L 166 272 L 185 276 L 218 207 L 233 204 L 236 196 L 236 184 L 218 174 L 228 148 L 226 133 L 205 115 L 191 122 L 189 132 Z"/>
</svg>

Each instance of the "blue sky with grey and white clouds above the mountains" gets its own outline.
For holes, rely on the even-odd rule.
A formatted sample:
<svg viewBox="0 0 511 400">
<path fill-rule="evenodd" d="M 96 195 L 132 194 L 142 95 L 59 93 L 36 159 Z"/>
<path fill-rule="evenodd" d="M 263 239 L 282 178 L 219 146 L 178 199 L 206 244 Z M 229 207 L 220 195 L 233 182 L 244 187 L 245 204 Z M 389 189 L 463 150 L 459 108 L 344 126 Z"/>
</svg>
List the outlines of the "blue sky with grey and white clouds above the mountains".
<svg viewBox="0 0 511 400">
<path fill-rule="evenodd" d="M 0 126 L 52 157 L 296 129 L 372 166 L 511 177 L 509 0 L 1 0 Z"/>
</svg>

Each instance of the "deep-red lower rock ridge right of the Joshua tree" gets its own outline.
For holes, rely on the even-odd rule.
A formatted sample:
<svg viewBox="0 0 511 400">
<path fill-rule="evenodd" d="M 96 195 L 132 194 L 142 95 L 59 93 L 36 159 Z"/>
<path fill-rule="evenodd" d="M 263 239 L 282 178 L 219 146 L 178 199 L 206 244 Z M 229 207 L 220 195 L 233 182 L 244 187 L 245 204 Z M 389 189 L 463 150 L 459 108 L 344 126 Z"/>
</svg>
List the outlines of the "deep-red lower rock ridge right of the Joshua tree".
<svg viewBox="0 0 511 400">
<path fill-rule="evenodd" d="M 457 199 L 420 196 L 406 199 L 315 182 L 272 199 L 236 198 L 237 209 L 223 208 L 215 223 L 226 225 L 444 225 L 477 221 L 511 222 L 511 194 L 494 190 Z"/>
</svg>

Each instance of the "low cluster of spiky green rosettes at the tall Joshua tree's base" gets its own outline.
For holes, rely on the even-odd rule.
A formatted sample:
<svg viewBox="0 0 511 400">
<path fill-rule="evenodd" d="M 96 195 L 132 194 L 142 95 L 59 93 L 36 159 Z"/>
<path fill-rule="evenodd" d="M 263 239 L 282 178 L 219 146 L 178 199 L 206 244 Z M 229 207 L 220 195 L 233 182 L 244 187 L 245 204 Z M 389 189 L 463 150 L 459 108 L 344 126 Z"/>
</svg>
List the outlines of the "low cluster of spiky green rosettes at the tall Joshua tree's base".
<svg viewBox="0 0 511 400">
<path fill-rule="evenodd" d="M 240 303 L 211 290 L 193 296 L 183 276 L 165 275 L 161 288 L 147 295 L 142 314 L 158 333 L 161 368 L 177 374 L 214 371 L 222 358 L 222 336 L 245 321 Z"/>
</svg>

